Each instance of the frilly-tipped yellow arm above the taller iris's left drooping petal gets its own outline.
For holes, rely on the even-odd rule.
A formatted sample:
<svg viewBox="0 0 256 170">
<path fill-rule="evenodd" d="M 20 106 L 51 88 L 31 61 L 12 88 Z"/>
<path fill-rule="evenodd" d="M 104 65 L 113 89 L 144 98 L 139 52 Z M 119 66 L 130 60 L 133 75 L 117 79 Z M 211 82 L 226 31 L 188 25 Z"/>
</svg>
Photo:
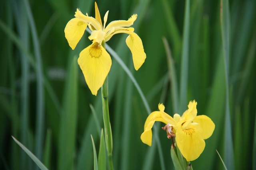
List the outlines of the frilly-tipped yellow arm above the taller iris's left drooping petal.
<svg viewBox="0 0 256 170">
<path fill-rule="evenodd" d="M 85 16 L 84 14 L 82 14 L 82 12 L 79 9 L 76 9 L 75 17 L 84 21 L 87 25 L 90 24 L 89 28 L 91 29 L 91 31 L 100 30 L 100 29 L 102 30 L 102 26 L 100 25 L 98 20 L 96 20 L 93 17 Z"/>
</svg>

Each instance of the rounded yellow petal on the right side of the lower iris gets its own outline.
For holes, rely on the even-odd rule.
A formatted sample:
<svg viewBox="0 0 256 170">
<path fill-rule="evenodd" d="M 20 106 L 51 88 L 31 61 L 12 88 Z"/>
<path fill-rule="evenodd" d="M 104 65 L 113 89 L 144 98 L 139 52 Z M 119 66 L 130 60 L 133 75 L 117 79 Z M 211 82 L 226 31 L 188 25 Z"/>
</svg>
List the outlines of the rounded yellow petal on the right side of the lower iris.
<svg viewBox="0 0 256 170">
<path fill-rule="evenodd" d="M 212 136 L 212 133 L 215 129 L 215 124 L 213 123 L 212 119 L 210 119 L 210 117 L 206 115 L 199 115 L 195 117 L 193 122 L 198 123 L 200 127 L 203 129 L 203 139 L 208 139 L 210 136 Z"/>
</svg>

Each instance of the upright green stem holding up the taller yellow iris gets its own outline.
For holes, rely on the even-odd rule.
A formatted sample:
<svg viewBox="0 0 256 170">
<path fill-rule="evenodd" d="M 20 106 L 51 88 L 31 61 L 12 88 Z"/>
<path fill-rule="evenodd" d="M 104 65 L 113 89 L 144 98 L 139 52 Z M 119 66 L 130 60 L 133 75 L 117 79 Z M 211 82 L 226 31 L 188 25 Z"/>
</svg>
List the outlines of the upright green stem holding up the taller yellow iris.
<svg viewBox="0 0 256 170">
<path fill-rule="evenodd" d="M 105 47 L 105 43 L 102 43 L 102 46 Z M 109 119 L 108 111 L 108 76 L 101 87 L 101 96 L 102 96 L 102 107 L 103 107 L 103 121 L 104 121 L 104 131 L 105 131 L 105 141 L 106 148 L 108 151 L 108 163 L 110 170 L 113 170 L 113 161 L 112 161 L 112 150 L 113 150 L 113 141 L 112 141 L 112 131 Z"/>
</svg>

